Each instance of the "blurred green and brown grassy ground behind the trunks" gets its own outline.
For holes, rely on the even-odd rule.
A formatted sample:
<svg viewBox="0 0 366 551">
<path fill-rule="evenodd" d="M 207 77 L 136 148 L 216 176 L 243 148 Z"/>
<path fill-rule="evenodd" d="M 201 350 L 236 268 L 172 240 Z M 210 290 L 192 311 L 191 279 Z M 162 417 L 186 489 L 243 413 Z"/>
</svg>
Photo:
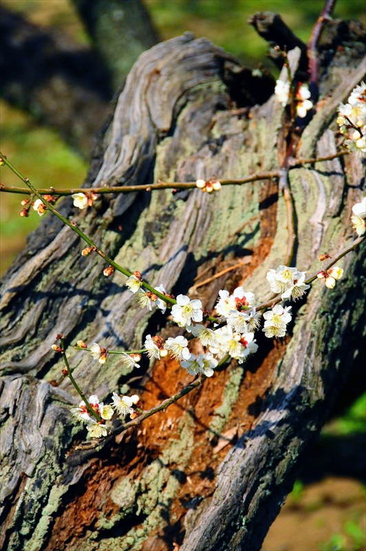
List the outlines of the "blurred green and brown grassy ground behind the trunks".
<svg viewBox="0 0 366 551">
<path fill-rule="evenodd" d="M 190 30 L 196 37 L 208 37 L 252 67 L 265 61 L 267 45 L 246 23 L 250 14 L 278 12 L 306 42 L 323 8 L 323 0 L 144 0 L 144 4 L 160 39 Z M 36 25 L 69 34 L 81 44 L 90 43 L 71 1 L 3 0 L 1 5 Z M 366 25 L 365 6 L 364 0 L 338 0 L 334 17 L 356 18 Z M 269 61 L 266 65 L 271 67 Z M 277 74 L 274 67 L 272 72 Z M 2 100 L 0 118 L 1 150 L 34 185 L 78 187 L 83 182 L 87 161 L 56 132 Z M 6 167 L 0 170 L 4 185 L 20 185 Z M 39 223 L 34 211 L 29 218 L 19 217 L 21 198 L 0 194 L 1 273 Z M 366 394 L 345 406 L 323 429 L 318 443 L 310 450 L 308 466 L 266 537 L 263 551 L 366 549 L 365 424 Z"/>
</svg>

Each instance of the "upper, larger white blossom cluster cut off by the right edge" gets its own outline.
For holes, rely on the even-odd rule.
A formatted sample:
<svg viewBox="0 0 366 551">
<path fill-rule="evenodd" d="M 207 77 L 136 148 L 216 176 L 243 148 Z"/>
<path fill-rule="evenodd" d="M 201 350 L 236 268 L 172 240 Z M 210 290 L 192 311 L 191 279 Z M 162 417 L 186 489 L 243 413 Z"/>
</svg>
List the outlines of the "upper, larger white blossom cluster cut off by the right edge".
<svg viewBox="0 0 366 551">
<path fill-rule="evenodd" d="M 366 156 L 366 83 L 352 90 L 347 103 L 338 107 L 337 124 L 350 152 Z"/>
</svg>

